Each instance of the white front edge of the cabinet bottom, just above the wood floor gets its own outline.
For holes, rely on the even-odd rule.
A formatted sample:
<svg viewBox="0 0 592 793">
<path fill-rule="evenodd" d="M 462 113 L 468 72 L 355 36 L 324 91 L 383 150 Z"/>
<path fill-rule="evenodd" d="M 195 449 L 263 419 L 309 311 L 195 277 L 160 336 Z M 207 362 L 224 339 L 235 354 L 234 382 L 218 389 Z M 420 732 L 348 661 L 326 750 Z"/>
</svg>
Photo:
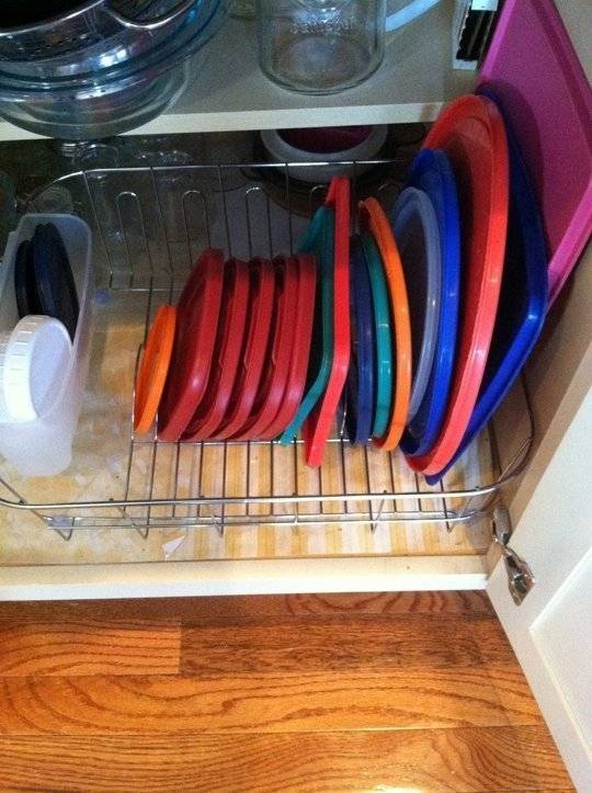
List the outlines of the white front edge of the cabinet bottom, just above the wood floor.
<svg viewBox="0 0 592 793">
<path fill-rule="evenodd" d="M 0 600 L 98 600 L 485 589 L 485 556 L 0 567 Z"/>
</svg>

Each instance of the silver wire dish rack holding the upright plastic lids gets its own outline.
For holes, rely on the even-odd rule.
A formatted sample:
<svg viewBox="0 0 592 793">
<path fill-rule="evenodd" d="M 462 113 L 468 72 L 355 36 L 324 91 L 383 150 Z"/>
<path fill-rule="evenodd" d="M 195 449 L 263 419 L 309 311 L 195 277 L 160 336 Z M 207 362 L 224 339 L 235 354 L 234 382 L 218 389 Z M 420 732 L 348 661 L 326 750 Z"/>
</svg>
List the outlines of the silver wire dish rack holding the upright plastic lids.
<svg viewBox="0 0 592 793">
<path fill-rule="evenodd" d="M 318 183 L 305 181 L 311 168 Z M 517 409 L 528 417 L 528 429 L 510 457 L 500 454 L 492 421 L 437 487 L 428 487 L 397 451 L 351 446 L 338 426 L 319 469 L 304 464 L 300 439 L 289 446 L 175 444 L 132 429 L 133 384 L 150 321 L 159 305 L 177 298 L 205 247 L 243 259 L 291 252 L 333 173 L 352 178 L 354 201 L 373 194 L 388 209 L 400 190 L 399 172 L 400 162 L 376 160 L 117 169 L 58 180 L 93 231 L 94 371 L 119 363 L 111 378 L 90 378 L 72 471 L 39 484 L 18 480 L 2 468 L 0 506 L 29 510 L 65 539 L 98 528 L 146 536 L 150 529 L 169 528 L 214 525 L 223 533 L 230 525 L 361 523 L 375 531 L 423 521 L 452 530 L 489 514 L 532 446 L 524 383 Z M 92 467 L 87 479 L 80 473 L 84 465 Z M 112 469 L 113 476 L 102 475 Z M 70 479 L 82 482 L 76 497 Z M 68 496 L 57 499 L 62 491 Z"/>
</svg>

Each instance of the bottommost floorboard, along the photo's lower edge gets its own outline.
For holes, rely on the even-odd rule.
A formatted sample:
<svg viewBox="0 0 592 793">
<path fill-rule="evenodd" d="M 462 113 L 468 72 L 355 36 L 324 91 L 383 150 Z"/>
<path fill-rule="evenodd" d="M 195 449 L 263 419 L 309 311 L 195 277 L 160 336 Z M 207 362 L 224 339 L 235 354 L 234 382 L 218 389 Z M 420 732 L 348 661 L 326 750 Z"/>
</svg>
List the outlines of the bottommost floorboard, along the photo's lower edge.
<svg viewBox="0 0 592 793">
<path fill-rule="evenodd" d="M 213 736 L 0 738 L 2 790 L 572 790 L 543 726 Z"/>
</svg>

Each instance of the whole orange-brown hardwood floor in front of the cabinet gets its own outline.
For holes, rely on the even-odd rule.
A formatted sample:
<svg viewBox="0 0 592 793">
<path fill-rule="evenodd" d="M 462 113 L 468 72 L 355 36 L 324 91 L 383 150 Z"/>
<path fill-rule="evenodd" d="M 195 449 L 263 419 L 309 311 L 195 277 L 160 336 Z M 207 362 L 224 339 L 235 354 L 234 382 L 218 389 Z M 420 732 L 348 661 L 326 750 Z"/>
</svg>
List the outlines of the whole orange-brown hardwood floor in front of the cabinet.
<svg viewBox="0 0 592 793">
<path fill-rule="evenodd" d="M 0 604 L 1 791 L 568 791 L 480 592 Z"/>
</svg>

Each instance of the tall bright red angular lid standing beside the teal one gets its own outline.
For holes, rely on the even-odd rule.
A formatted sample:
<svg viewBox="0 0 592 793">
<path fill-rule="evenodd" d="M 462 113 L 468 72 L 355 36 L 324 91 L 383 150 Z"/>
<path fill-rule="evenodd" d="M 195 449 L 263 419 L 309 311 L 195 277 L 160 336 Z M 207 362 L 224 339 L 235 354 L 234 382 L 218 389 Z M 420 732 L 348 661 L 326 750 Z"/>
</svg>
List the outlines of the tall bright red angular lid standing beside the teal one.
<svg viewBox="0 0 592 793">
<path fill-rule="evenodd" d="M 333 270 L 333 361 L 327 389 L 307 418 L 303 435 L 308 465 L 322 463 L 350 366 L 350 180 L 331 181 L 325 202 L 335 213 Z"/>
</svg>

